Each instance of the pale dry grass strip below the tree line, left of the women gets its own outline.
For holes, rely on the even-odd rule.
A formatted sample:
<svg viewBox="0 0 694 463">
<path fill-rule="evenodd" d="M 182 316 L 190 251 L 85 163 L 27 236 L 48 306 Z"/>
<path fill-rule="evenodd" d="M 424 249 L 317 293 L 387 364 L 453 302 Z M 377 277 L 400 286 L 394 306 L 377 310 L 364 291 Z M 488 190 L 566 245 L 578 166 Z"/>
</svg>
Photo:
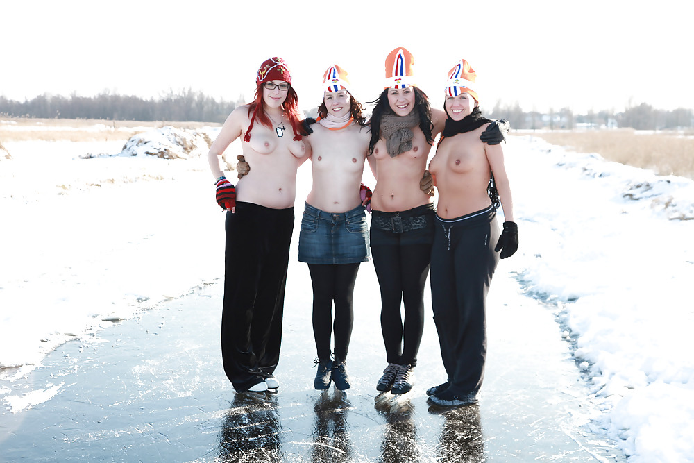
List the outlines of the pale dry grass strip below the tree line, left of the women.
<svg viewBox="0 0 694 463">
<path fill-rule="evenodd" d="M 95 130 L 94 127 L 99 124 L 105 127 L 102 130 Z M 202 122 L 140 122 L 5 117 L 0 119 L 0 142 L 31 142 L 35 140 L 48 142 L 126 142 L 137 133 L 163 126 L 195 129 L 218 125 Z"/>
</svg>

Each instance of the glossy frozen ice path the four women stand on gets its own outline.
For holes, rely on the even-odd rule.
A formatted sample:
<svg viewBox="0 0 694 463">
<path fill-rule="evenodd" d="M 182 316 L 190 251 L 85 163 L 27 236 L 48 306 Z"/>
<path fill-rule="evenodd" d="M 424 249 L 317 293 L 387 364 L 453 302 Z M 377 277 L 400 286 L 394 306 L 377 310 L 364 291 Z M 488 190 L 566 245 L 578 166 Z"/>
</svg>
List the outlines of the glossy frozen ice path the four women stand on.
<svg viewBox="0 0 694 463">
<path fill-rule="evenodd" d="M 289 284 L 296 286 L 294 265 Z M 527 462 L 623 461 L 591 432 L 597 412 L 546 308 L 501 274 L 489 314 L 489 363 L 479 405 L 439 410 L 425 390 L 443 378 L 428 323 L 415 387 L 375 403 L 384 367 L 378 312 L 357 294 L 348 359 L 352 387 L 312 389 L 310 294 L 289 289 L 277 394 L 235 394 L 221 367 L 223 285 L 63 344 L 15 391 L 61 384 L 50 400 L 0 415 L 3 461 Z M 364 265 L 357 285 L 376 285 Z M 521 322 L 521 319 L 523 322 Z M 532 323 L 527 336 L 519 323 Z"/>
</svg>

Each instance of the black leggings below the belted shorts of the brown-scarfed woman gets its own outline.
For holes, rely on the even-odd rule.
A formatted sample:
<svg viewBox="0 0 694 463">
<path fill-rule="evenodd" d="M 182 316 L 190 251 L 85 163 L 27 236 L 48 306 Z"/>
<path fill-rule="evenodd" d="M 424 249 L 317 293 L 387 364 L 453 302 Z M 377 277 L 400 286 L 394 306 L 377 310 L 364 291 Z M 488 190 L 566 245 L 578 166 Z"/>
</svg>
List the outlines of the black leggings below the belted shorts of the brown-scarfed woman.
<svg viewBox="0 0 694 463">
<path fill-rule="evenodd" d="M 381 330 L 388 363 L 417 364 L 424 331 L 424 284 L 431 244 L 372 246 L 373 267 L 381 289 Z M 405 323 L 400 304 L 405 303 Z"/>
</svg>

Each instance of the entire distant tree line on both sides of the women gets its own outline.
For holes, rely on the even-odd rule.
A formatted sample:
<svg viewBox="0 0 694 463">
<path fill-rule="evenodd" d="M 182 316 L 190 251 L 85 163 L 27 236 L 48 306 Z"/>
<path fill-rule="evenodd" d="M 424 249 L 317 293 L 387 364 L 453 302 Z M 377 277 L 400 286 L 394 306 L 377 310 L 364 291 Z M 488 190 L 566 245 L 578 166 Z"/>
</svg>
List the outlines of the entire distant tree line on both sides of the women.
<svg viewBox="0 0 694 463">
<path fill-rule="evenodd" d="M 240 102 L 239 102 L 240 103 Z M 217 101 L 201 92 L 184 90 L 168 94 L 158 99 L 142 99 L 138 96 L 125 96 L 102 92 L 97 96 L 69 97 L 44 94 L 31 100 L 14 101 L 0 96 L 0 115 L 10 117 L 39 117 L 64 119 L 107 119 L 124 121 L 197 121 L 223 122 L 236 108 L 237 103 Z M 367 108 L 368 110 L 369 108 Z M 513 105 L 497 102 L 489 112 L 495 119 L 507 119 L 511 127 L 517 129 L 571 129 L 577 126 L 631 127 L 637 130 L 660 130 L 691 128 L 694 126 L 693 111 L 658 110 L 641 103 L 623 112 L 601 110 L 588 114 L 575 115 L 570 108 L 550 110 L 548 113 L 524 111 L 518 103 Z M 310 111 L 309 111 L 310 113 Z"/>
</svg>

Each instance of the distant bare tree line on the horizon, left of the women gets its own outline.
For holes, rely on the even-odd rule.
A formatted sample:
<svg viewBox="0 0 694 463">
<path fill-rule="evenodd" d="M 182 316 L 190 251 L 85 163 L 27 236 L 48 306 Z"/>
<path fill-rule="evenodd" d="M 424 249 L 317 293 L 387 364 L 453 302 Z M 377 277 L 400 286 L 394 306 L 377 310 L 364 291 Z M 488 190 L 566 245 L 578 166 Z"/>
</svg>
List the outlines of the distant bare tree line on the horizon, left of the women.
<svg viewBox="0 0 694 463">
<path fill-rule="evenodd" d="M 110 92 L 90 97 L 72 94 L 67 98 L 44 94 L 22 102 L 0 96 L 0 114 L 47 119 L 223 122 L 236 106 L 192 90 L 169 91 L 158 99 Z"/>
</svg>

